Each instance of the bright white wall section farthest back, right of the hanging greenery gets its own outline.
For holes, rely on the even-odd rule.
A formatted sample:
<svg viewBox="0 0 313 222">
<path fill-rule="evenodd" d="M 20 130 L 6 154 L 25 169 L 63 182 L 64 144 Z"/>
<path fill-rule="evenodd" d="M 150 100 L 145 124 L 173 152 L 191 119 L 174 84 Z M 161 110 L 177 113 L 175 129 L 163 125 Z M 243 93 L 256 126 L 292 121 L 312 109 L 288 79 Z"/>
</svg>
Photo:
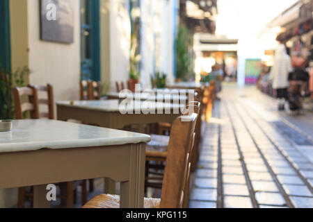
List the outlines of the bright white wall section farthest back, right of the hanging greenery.
<svg viewBox="0 0 313 222">
<path fill-rule="evenodd" d="M 174 81 L 175 0 L 141 0 L 141 83 L 151 87 L 154 71 Z"/>
</svg>

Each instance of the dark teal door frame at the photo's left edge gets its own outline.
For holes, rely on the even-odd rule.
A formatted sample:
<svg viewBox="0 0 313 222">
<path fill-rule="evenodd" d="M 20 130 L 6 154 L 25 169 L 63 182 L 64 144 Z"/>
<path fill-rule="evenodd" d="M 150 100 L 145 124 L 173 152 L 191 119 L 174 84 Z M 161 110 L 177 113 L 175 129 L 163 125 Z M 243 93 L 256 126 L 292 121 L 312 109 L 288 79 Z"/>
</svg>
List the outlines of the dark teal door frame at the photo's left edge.
<svg viewBox="0 0 313 222">
<path fill-rule="evenodd" d="M 9 0 L 0 1 L 0 65 L 6 71 L 11 70 L 10 50 L 10 7 Z"/>
</svg>

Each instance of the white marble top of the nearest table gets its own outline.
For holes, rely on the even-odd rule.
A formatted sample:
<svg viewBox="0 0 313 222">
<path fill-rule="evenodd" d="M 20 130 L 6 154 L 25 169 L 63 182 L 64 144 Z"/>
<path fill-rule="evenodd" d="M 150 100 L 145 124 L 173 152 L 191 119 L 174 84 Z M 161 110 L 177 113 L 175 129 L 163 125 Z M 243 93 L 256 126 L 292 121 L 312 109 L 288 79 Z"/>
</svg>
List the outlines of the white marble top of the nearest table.
<svg viewBox="0 0 313 222">
<path fill-rule="evenodd" d="M 0 153 L 150 142 L 149 135 L 49 119 L 13 121 L 0 132 Z"/>
</svg>

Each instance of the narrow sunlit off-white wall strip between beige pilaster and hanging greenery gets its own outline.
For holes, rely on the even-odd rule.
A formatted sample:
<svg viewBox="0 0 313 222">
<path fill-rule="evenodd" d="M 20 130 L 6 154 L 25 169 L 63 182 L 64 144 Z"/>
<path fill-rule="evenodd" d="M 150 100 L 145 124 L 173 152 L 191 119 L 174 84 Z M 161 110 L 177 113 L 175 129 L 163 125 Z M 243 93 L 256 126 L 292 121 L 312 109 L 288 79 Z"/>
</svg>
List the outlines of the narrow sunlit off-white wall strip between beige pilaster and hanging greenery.
<svg viewBox="0 0 313 222">
<path fill-rule="evenodd" d="M 111 89 L 115 81 L 126 83 L 129 79 L 129 50 L 131 46 L 131 23 L 129 0 L 110 1 L 110 78 Z"/>
</svg>

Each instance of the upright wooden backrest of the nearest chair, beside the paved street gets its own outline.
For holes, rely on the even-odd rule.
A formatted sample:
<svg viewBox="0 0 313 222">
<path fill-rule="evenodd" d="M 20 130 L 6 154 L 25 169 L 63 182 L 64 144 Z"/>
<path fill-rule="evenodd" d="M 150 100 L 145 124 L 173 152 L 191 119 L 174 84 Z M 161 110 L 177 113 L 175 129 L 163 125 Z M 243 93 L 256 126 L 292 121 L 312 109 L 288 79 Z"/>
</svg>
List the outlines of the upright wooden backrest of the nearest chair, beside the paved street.
<svg viewBox="0 0 313 222">
<path fill-rule="evenodd" d="M 175 119 L 170 130 L 168 157 L 163 178 L 161 208 L 184 207 L 184 195 L 190 176 L 190 155 L 195 139 L 195 124 L 198 114 Z"/>
</svg>

